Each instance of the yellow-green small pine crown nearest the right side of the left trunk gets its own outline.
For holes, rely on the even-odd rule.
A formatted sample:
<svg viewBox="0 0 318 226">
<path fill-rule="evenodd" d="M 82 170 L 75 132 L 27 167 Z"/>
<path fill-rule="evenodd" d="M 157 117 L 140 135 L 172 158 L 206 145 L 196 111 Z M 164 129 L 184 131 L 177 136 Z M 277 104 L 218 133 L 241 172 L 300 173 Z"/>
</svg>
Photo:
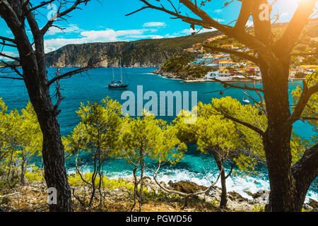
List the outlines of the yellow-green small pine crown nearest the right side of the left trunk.
<svg viewBox="0 0 318 226">
<path fill-rule="evenodd" d="M 81 152 L 100 155 L 102 163 L 119 151 L 119 133 L 122 126 L 121 106 L 116 100 L 106 98 L 102 105 L 88 102 L 81 104 L 76 112 L 81 123 L 70 136 L 64 138 L 66 152 L 77 155 Z"/>
</svg>

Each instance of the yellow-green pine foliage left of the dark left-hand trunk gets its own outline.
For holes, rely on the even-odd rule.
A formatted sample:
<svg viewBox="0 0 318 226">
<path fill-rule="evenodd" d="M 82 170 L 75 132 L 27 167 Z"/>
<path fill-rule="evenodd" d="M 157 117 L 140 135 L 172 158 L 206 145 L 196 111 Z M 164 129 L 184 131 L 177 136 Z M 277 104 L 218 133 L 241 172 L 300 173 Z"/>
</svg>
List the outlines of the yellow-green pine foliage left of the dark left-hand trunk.
<svg viewBox="0 0 318 226">
<path fill-rule="evenodd" d="M 23 183 L 30 161 L 42 150 L 42 131 L 30 102 L 21 113 L 17 109 L 7 112 L 0 99 L 0 150 L 0 167 L 5 171 L 8 185 L 11 186 L 17 172 Z"/>
</svg>

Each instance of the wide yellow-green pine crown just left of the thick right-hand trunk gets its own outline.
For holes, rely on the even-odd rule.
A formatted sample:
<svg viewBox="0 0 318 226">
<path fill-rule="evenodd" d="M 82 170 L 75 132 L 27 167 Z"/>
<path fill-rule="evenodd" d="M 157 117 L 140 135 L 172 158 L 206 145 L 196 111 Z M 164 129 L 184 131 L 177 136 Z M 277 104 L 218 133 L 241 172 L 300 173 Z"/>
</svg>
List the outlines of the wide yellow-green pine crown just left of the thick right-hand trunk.
<svg viewBox="0 0 318 226">
<path fill-rule="evenodd" d="M 254 165 L 259 160 L 264 161 L 261 136 L 224 117 L 234 117 L 266 129 L 266 117 L 259 114 L 257 106 L 242 105 L 232 97 L 223 97 L 213 99 L 208 105 L 199 102 L 195 110 L 196 123 L 184 124 L 184 113 L 175 120 L 182 141 L 196 143 L 201 153 L 218 155 L 222 162 L 232 160 L 245 172 L 254 172 Z"/>
</svg>

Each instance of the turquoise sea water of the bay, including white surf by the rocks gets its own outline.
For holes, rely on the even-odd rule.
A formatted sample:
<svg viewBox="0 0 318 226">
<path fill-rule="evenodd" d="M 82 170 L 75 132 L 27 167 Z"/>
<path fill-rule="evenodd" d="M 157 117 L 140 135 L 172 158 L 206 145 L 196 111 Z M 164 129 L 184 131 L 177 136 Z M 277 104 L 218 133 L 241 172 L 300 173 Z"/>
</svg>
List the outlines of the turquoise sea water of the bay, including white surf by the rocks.
<svg viewBox="0 0 318 226">
<path fill-rule="evenodd" d="M 49 76 L 54 76 L 56 69 L 47 69 Z M 61 73 L 69 71 L 71 69 L 61 69 Z M 124 83 L 129 83 L 129 88 L 136 93 L 137 85 L 143 85 L 143 93 L 148 90 L 153 90 L 155 93 L 160 91 L 197 91 L 198 102 L 209 103 L 213 97 L 223 97 L 220 93 L 208 93 L 213 90 L 222 90 L 223 85 L 219 83 L 182 83 L 177 79 L 163 78 L 161 76 L 152 74 L 155 68 L 131 68 L 124 69 Z M 119 74 L 119 69 L 114 69 L 115 74 Z M 119 79 L 119 78 L 117 78 Z M 108 90 L 105 88 L 107 83 L 112 80 L 112 69 L 93 69 L 88 73 L 82 75 L 76 75 L 72 78 L 64 79 L 61 81 L 61 91 L 63 97 L 66 97 L 61 102 L 61 114 L 59 114 L 59 123 L 61 125 L 61 133 L 63 136 L 71 133 L 73 128 L 78 124 L 79 119 L 76 115 L 76 110 L 80 107 L 81 102 L 86 101 L 100 101 L 103 98 L 109 96 L 113 99 L 123 103 L 125 100 L 121 100 L 121 95 L 124 90 Z M 240 83 L 237 83 L 240 84 Z M 247 83 L 245 83 L 247 84 Z M 290 90 L 296 88 L 297 85 L 301 85 L 301 81 L 295 81 L 290 83 Z M 252 85 L 252 84 L 247 84 Z M 257 83 L 257 86 L 261 87 L 261 83 Z M 52 93 L 54 90 L 52 88 Z M 247 91 L 249 95 L 257 98 L 257 95 L 252 91 Z M 225 91 L 224 95 L 230 95 L 242 101 L 245 97 L 242 90 L 230 89 Z M 12 81 L 2 79 L 0 80 L 0 97 L 3 97 L 4 102 L 9 109 L 17 108 L 21 109 L 25 107 L 29 98 L 25 85 L 22 81 Z M 291 100 L 291 99 L 290 99 Z M 144 104 L 147 101 L 144 101 Z M 161 117 L 167 121 L 172 121 L 175 117 Z M 295 132 L 299 135 L 309 138 L 314 134 L 311 127 L 308 124 L 304 124 L 301 121 L 295 123 Z M 84 168 L 86 172 L 90 171 L 90 157 L 83 156 L 82 160 L 86 160 L 87 165 Z M 73 161 L 66 161 L 66 167 L 69 172 L 74 171 Z M 131 175 L 131 166 L 127 165 L 124 160 L 112 160 L 107 162 L 103 166 L 103 170 L 108 177 L 129 177 Z M 257 177 L 230 177 L 226 183 L 228 191 L 235 190 L 242 196 L 250 198 L 245 194 L 243 190 L 249 190 L 251 192 L 259 191 L 260 189 L 269 189 L 268 177 L 266 169 L 260 168 L 261 174 Z M 151 175 L 151 174 L 149 174 Z M 184 156 L 184 160 L 175 167 L 165 166 L 160 171 L 160 179 L 169 182 L 190 180 L 197 184 L 208 186 L 211 182 L 218 177 L 218 169 L 216 164 L 211 160 L 211 157 L 201 155 L 196 151 L 194 146 L 189 147 L 189 151 Z M 220 184 L 218 184 L 220 186 Z M 317 186 L 312 184 L 307 197 L 318 200 Z"/>
</svg>

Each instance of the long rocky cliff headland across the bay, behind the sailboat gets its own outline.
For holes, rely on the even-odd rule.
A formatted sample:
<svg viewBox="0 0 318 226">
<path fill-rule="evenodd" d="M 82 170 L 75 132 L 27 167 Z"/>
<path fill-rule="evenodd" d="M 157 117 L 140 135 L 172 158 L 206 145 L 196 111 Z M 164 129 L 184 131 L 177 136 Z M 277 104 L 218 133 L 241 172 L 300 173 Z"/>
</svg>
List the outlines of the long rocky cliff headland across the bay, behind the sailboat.
<svg viewBox="0 0 318 226">
<path fill-rule="evenodd" d="M 220 32 L 134 42 L 68 44 L 47 54 L 47 66 L 86 66 L 92 57 L 101 60 L 98 66 L 118 66 L 119 57 L 122 57 L 125 67 L 157 67 L 182 49 L 217 35 Z"/>
</svg>

